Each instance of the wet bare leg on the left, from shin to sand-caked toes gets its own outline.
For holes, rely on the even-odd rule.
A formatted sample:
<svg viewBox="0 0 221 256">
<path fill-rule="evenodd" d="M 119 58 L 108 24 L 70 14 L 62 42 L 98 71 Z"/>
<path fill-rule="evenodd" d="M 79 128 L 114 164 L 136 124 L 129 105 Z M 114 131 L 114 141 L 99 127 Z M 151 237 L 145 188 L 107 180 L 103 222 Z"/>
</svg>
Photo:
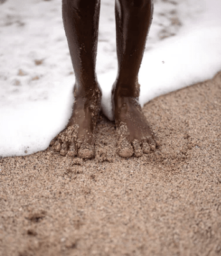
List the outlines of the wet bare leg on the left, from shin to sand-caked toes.
<svg viewBox="0 0 221 256">
<path fill-rule="evenodd" d="M 101 106 L 95 73 L 100 0 L 63 0 L 62 14 L 76 78 L 75 102 L 67 128 L 55 138 L 54 147 L 62 155 L 91 158 Z"/>
</svg>

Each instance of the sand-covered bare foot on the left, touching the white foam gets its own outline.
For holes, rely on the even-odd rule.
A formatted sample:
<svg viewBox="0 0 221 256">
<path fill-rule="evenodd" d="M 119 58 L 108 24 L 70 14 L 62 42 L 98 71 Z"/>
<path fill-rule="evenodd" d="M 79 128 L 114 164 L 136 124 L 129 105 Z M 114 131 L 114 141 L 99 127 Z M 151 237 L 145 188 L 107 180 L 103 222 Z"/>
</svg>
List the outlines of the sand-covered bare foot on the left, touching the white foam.
<svg viewBox="0 0 221 256">
<path fill-rule="evenodd" d="M 96 89 L 87 97 L 79 96 L 81 93 L 77 95 L 76 91 L 75 88 L 72 117 L 50 145 L 61 155 L 90 159 L 95 155 L 94 134 L 101 107 L 101 91 Z"/>
</svg>

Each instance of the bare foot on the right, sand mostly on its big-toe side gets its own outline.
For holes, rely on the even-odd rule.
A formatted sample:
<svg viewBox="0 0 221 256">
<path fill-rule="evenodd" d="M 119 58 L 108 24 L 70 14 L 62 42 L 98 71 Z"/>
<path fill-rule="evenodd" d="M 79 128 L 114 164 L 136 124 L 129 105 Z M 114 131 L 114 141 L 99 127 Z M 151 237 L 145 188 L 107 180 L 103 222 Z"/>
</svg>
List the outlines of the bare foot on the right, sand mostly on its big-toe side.
<svg viewBox="0 0 221 256">
<path fill-rule="evenodd" d="M 140 157 L 156 148 L 154 134 L 135 97 L 115 96 L 115 122 L 119 136 L 117 152 L 121 157 Z"/>
</svg>

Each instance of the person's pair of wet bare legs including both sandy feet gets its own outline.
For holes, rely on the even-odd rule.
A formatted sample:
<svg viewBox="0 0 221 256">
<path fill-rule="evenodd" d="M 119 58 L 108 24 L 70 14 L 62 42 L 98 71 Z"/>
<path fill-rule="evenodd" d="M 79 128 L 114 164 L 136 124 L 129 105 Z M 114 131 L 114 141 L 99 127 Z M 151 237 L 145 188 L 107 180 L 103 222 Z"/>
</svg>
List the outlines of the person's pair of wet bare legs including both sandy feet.
<svg viewBox="0 0 221 256">
<path fill-rule="evenodd" d="M 53 140 L 62 155 L 90 159 L 101 107 L 95 64 L 100 0 L 63 0 L 63 24 L 75 72 L 75 102 L 67 128 Z M 112 89 L 121 157 L 139 157 L 156 142 L 138 102 L 138 72 L 153 17 L 152 0 L 116 0 L 118 75 Z"/>
</svg>

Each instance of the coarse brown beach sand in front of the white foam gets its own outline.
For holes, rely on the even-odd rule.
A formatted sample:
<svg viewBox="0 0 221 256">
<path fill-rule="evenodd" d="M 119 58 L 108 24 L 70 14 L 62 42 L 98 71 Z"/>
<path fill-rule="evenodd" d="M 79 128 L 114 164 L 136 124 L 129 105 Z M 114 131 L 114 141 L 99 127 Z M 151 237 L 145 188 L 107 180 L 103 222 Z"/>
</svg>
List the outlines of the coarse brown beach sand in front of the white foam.
<svg viewBox="0 0 221 256">
<path fill-rule="evenodd" d="M 161 147 L 140 158 L 100 117 L 95 159 L 1 159 L 0 255 L 221 255 L 221 72 L 144 112 Z"/>
</svg>

